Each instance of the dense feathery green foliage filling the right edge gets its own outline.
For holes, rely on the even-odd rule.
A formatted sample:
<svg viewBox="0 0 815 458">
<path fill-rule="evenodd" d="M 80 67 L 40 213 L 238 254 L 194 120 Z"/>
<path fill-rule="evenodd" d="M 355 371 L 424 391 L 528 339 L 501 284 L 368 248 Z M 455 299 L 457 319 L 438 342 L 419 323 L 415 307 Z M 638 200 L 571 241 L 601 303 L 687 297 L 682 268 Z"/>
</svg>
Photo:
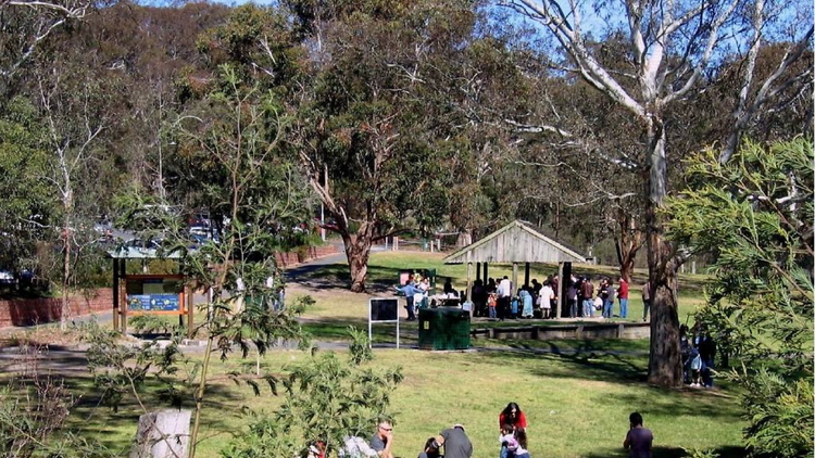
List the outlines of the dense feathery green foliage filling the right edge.
<svg viewBox="0 0 815 458">
<path fill-rule="evenodd" d="M 745 142 L 727 164 L 716 157 L 688 162 L 690 187 L 665 209 L 668 233 L 715 256 L 698 318 L 741 361 L 729 377 L 744 387 L 748 444 L 812 456 L 813 144 Z"/>
</svg>

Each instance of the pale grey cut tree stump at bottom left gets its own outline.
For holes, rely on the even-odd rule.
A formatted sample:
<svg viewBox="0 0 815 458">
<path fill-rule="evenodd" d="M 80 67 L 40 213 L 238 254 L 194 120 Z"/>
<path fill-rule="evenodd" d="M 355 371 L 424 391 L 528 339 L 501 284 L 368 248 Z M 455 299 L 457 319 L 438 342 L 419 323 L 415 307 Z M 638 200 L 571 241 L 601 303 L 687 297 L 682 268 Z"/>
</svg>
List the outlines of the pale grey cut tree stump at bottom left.
<svg viewBox="0 0 815 458">
<path fill-rule="evenodd" d="M 139 417 L 130 458 L 187 458 L 189 410 L 159 410 Z"/>
</svg>

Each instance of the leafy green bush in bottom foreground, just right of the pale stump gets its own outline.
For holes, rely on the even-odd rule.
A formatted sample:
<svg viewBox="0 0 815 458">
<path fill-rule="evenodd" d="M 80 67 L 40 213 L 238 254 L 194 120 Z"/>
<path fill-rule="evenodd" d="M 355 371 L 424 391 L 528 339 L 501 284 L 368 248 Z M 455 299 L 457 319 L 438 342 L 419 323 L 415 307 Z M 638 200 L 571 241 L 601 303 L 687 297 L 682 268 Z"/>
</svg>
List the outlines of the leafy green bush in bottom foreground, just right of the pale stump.
<svg viewBox="0 0 815 458">
<path fill-rule="evenodd" d="M 221 455 L 260 458 L 304 456 L 322 443 L 335 456 L 347 436 L 365 436 L 375 424 L 390 418 L 390 394 L 402 381 L 400 368 L 374 370 L 364 332 L 350 330 L 353 343 L 347 359 L 336 353 L 317 353 L 287 369 L 285 398 L 273 416 L 251 412 L 249 431 L 238 435 Z"/>
</svg>

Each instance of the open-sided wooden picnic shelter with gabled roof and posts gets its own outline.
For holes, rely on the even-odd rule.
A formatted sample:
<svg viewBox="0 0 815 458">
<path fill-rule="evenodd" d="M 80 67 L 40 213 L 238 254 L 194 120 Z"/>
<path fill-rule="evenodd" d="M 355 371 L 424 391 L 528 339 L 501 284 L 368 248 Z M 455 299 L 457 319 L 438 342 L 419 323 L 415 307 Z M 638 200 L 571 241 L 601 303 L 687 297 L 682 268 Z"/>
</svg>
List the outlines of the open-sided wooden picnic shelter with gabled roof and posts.
<svg viewBox="0 0 815 458">
<path fill-rule="evenodd" d="M 484 239 L 472 243 L 444 257 L 444 264 L 467 265 L 467 297 L 473 292 L 473 264 L 476 278 L 488 278 L 489 263 L 512 264 L 512 284 L 517 288 L 518 264 L 524 263 L 524 284 L 529 284 L 529 265 L 546 263 L 559 265 L 556 317 L 563 309 L 564 279 L 572 275 L 572 263 L 586 263 L 586 256 L 566 243 L 548 237 L 543 231 L 527 221 L 514 220 Z"/>
</svg>

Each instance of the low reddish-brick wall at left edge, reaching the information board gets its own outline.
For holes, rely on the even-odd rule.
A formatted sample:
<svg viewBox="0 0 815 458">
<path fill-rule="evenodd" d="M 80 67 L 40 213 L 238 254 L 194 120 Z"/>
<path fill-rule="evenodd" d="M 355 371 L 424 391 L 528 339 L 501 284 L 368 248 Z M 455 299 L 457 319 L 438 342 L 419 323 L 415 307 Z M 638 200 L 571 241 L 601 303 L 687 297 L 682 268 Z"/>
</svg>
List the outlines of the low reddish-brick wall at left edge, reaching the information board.
<svg viewBox="0 0 815 458">
<path fill-rule="evenodd" d="M 100 288 L 74 294 L 70 304 L 71 317 L 108 311 L 113 308 L 113 290 Z M 61 315 L 61 297 L 0 300 L 0 328 L 59 321 Z"/>
</svg>

